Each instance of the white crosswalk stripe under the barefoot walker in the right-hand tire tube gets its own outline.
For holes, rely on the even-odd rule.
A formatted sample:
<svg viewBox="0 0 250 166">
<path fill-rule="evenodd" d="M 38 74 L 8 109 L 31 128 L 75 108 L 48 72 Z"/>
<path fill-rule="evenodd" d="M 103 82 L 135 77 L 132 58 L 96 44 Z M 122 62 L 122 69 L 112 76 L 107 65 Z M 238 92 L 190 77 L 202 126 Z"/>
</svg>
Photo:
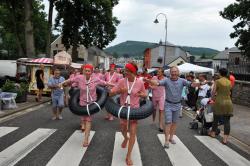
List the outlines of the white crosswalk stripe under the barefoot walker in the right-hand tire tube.
<svg viewBox="0 0 250 166">
<path fill-rule="evenodd" d="M 123 141 L 122 134 L 120 132 L 117 132 L 115 134 L 115 146 L 114 146 L 111 166 L 126 165 L 125 159 L 126 159 L 126 154 L 127 154 L 127 148 L 124 148 L 124 149 L 121 148 L 122 141 Z M 132 160 L 133 160 L 134 165 L 136 166 L 142 165 L 141 154 L 140 154 L 137 140 L 135 141 L 134 148 L 132 151 Z"/>
</svg>

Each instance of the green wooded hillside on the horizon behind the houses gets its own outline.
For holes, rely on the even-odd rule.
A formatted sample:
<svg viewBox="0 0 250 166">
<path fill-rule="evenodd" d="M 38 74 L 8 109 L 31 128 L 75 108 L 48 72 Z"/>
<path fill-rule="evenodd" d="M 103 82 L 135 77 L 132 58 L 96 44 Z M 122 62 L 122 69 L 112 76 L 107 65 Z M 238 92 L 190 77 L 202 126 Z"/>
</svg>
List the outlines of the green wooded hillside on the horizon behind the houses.
<svg viewBox="0 0 250 166">
<path fill-rule="evenodd" d="M 114 57 L 143 57 L 143 52 L 146 48 L 154 47 L 157 43 L 141 42 L 141 41 L 126 41 L 119 43 L 115 46 L 108 47 L 105 49 L 106 52 L 112 54 Z M 207 58 L 213 57 L 219 51 L 211 48 L 203 47 L 182 47 L 185 51 L 188 51 L 192 55 L 202 56 L 205 55 Z"/>
</svg>

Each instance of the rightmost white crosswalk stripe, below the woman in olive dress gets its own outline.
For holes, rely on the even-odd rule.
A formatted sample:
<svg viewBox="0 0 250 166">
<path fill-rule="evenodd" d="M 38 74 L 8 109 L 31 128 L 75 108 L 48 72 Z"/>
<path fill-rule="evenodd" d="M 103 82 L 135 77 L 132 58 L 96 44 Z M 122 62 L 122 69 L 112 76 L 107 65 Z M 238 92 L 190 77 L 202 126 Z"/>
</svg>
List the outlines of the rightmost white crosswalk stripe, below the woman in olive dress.
<svg viewBox="0 0 250 166">
<path fill-rule="evenodd" d="M 195 136 L 208 149 L 215 153 L 229 166 L 249 166 L 250 161 L 233 151 L 228 146 L 223 145 L 217 139 L 211 139 L 208 136 Z"/>
</svg>

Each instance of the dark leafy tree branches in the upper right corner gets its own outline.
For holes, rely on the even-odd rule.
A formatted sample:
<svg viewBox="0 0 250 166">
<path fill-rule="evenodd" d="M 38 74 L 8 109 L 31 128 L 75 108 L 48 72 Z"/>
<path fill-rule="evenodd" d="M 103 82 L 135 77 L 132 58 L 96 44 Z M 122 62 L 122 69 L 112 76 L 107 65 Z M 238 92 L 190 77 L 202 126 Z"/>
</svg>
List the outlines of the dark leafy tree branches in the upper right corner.
<svg viewBox="0 0 250 166">
<path fill-rule="evenodd" d="M 238 21 L 233 26 L 234 32 L 230 34 L 231 38 L 238 38 L 235 45 L 242 50 L 243 54 L 250 58 L 250 1 L 249 0 L 236 0 L 235 3 L 228 5 L 220 15 L 233 22 Z"/>
</svg>

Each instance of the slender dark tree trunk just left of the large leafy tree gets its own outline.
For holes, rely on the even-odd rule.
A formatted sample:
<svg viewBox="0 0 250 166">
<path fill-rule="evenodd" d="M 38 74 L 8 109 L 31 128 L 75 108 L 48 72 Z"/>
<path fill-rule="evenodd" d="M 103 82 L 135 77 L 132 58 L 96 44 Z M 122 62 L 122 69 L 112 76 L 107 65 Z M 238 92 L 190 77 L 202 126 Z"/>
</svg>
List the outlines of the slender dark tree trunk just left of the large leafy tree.
<svg viewBox="0 0 250 166">
<path fill-rule="evenodd" d="M 52 16 L 53 16 L 53 8 L 54 8 L 54 1 L 49 0 L 49 15 L 48 15 L 48 34 L 47 34 L 47 41 L 46 41 L 46 56 L 52 58 L 53 55 L 50 53 L 51 50 L 51 27 L 52 27 Z"/>
</svg>

